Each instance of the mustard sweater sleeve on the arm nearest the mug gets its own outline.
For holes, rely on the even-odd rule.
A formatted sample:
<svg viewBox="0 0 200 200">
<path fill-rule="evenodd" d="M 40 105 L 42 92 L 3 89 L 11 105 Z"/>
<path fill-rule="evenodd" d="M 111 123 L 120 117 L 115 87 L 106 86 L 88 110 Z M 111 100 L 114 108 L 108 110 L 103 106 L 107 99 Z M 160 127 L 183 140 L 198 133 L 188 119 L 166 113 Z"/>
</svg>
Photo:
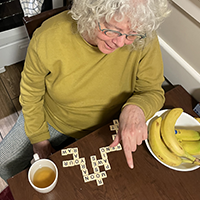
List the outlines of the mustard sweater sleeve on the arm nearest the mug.
<svg viewBox="0 0 200 200">
<path fill-rule="evenodd" d="M 30 41 L 20 83 L 20 103 L 25 132 L 32 144 L 49 139 L 44 112 L 45 77 L 49 71 L 38 56 L 38 42 Z"/>
</svg>

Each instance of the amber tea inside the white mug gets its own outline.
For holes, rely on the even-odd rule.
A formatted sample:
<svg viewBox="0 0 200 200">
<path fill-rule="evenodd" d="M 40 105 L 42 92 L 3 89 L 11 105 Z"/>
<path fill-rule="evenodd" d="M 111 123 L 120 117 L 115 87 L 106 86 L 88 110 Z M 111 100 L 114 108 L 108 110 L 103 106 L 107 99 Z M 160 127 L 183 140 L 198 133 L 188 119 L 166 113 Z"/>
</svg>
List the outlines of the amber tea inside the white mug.
<svg viewBox="0 0 200 200">
<path fill-rule="evenodd" d="M 33 184 L 39 188 L 50 186 L 56 178 L 56 173 L 49 167 L 38 169 L 33 176 Z"/>
</svg>

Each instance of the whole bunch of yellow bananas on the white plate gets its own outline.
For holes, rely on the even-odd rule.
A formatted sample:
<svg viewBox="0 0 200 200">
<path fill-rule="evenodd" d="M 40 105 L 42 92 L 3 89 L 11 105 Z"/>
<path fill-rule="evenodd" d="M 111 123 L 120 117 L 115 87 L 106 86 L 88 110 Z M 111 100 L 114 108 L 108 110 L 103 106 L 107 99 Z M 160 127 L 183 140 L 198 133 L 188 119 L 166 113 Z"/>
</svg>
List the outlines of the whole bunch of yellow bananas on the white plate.
<svg viewBox="0 0 200 200">
<path fill-rule="evenodd" d="M 176 121 L 182 112 L 182 108 L 174 108 L 164 119 L 158 117 L 153 120 L 148 136 L 150 147 L 157 158 L 167 165 L 200 165 L 200 160 L 194 156 L 200 154 L 200 134 L 193 130 L 175 130 Z"/>
</svg>

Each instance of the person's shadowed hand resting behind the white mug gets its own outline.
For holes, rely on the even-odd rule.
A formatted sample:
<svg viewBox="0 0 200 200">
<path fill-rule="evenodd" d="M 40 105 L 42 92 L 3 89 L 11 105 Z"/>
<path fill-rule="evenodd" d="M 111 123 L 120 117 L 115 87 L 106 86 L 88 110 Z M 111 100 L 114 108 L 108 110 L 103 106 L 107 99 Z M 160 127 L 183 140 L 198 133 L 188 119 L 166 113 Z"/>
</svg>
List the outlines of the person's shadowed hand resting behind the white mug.
<svg viewBox="0 0 200 200">
<path fill-rule="evenodd" d="M 55 152 L 55 149 L 48 140 L 44 140 L 33 144 L 33 151 L 39 155 L 39 158 L 47 158 Z"/>
</svg>

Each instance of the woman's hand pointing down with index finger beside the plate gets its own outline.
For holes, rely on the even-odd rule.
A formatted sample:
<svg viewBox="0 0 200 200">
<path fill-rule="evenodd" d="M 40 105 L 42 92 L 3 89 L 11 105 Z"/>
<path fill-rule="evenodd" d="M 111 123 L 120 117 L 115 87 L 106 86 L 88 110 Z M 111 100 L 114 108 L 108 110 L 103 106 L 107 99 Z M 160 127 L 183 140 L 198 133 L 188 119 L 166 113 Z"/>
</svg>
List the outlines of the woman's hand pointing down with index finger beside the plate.
<svg viewBox="0 0 200 200">
<path fill-rule="evenodd" d="M 147 139 L 147 125 L 141 108 L 135 105 L 127 105 L 119 117 L 118 134 L 110 145 L 116 146 L 121 140 L 128 166 L 134 167 L 132 152 L 135 152 L 137 145 Z"/>
</svg>

